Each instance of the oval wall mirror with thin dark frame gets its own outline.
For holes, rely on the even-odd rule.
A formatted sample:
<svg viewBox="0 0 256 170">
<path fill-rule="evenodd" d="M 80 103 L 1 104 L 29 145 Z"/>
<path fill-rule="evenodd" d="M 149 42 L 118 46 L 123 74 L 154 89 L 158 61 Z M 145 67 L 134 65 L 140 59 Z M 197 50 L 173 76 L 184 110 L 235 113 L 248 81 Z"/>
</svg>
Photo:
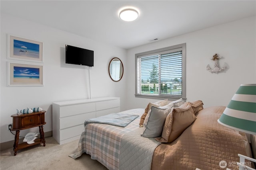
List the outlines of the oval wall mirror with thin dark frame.
<svg viewBox="0 0 256 170">
<path fill-rule="evenodd" d="M 118 59 L 117 57 L 114 57 L 113 59 L 111 59 L 109 65 L 108 65 L 108 73 L 110 78 L 114 81 L 114 82 L 118 82 L 119 80 L 121 80 L 123 74 L 124 74 L 124 68 L 123 68 L 123 63 L 120 59 Z"/>
</svg>

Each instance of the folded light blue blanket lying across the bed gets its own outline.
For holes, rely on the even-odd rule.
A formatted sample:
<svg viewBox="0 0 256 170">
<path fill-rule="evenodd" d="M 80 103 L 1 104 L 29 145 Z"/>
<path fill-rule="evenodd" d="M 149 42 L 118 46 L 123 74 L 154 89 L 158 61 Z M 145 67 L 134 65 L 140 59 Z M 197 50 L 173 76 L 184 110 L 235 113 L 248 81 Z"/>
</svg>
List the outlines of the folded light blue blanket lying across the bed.
<svg viewBox="0 0 256 170">
<path fill-rule="evenodd" d="M 111 113 L 109 115 L 104 115 L 104 116 L 86 120 L 84 122 L 84 127 L 88 123 L 102 123 L 102 124 L 126 127 L 129 123 L 131 123 L 137 117 L 139 117 L 139 115 L 129 115 L 125 113 Z"/>
</svg>

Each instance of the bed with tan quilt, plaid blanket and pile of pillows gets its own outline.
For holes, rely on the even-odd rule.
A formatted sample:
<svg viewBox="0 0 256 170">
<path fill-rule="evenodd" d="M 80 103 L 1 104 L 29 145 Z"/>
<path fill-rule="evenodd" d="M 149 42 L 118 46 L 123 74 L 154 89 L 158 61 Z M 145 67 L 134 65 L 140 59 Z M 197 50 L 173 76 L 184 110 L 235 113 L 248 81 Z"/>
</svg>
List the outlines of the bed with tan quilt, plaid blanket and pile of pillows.
<svg viewBox="0 0 256 170">
<path fill-rule="evenodd" d="M 76 152 L 69 156 L 78 158 L 83 153 L 90 154 L 92 159 L 98 160 L 110 170 L 222 169 L 221 162 L 226 162 L 226 168 L 238 169 L 238 153 L 251 156 L 250 144 L 245 134 L 217 122 L 224 109 L 224 106 L 203 108 L 202 101 L 197 101 L 167 105 L 156 102 L 149 103 L 146 109 L 122 111 L 120 113 L 138 117 L 126 127 L 104 123 L 86 124 Z M 158 137 L 150 137 L 150 130 L 146 133 L 150 126 L 147 127 L 145 123 L 149 124 L 154 110 L 168 112 L 162 118 L 164 123 L 160 126 L 161 132 L 156 132 Z M 186 111 L 190 113 L 185 114 Z M 186 118 L 177 117 L 182 114 Z M 185 120 L 187 117 L 191 120 Z"/>
</svg>

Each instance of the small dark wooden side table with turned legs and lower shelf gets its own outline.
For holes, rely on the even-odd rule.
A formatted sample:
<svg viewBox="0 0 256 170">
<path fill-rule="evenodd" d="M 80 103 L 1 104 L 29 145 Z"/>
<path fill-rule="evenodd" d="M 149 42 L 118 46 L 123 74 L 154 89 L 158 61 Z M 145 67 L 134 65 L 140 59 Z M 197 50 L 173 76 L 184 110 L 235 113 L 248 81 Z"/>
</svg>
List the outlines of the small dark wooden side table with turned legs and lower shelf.
<svg viewBox="0 0 256 170">
<path fill-rule="evenodd" d="M 33 145 L 37 145 L 39 143 L 43 143 L 43 146 L 45 147 L 45 140 L 44 140 L 44 128 L 43 125 L 46 124 L 44 121 L 44 113 L 46 111 L 40 111 L 40 112 L 33 112 L 33 113 L 28 113 L 28 114 L 14 114 L 11 115 L 12 117 L 12 131 L 16 131 L 15 134 L 15 139 L 14 139 L 14 145 L 13 145 L 13 150 L 14 150 L 14 156 L 17 154 L 17 150 L 23 149 L 26 147 L 30 147 Z M 28 143 L 19 143 L 19 135 L 20 135 L 20 130 L 24 129 L 29 129 L 32 127 L 39 127 L 39 133 L 40 133 L 40 138 L 35 139 L 32 144 Z"/>
</svg>

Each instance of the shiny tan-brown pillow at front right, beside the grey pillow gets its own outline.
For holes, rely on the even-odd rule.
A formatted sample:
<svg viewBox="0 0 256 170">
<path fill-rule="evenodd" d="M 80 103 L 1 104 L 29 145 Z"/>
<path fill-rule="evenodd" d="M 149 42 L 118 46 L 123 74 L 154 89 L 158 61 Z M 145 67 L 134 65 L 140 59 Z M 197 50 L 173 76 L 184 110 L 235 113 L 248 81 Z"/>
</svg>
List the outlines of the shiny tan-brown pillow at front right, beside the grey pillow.
<svg viewBox="0 0 256 170">
<path fill-rule="evenodd" d="M 192 103 L 186 102 L 180 107 L 172 109 L 167 115 L 162 137 L 156 138 L 156 141 L 170 143 L 177 139 L 182 132 L 196 120 Z"/>
</svg>

